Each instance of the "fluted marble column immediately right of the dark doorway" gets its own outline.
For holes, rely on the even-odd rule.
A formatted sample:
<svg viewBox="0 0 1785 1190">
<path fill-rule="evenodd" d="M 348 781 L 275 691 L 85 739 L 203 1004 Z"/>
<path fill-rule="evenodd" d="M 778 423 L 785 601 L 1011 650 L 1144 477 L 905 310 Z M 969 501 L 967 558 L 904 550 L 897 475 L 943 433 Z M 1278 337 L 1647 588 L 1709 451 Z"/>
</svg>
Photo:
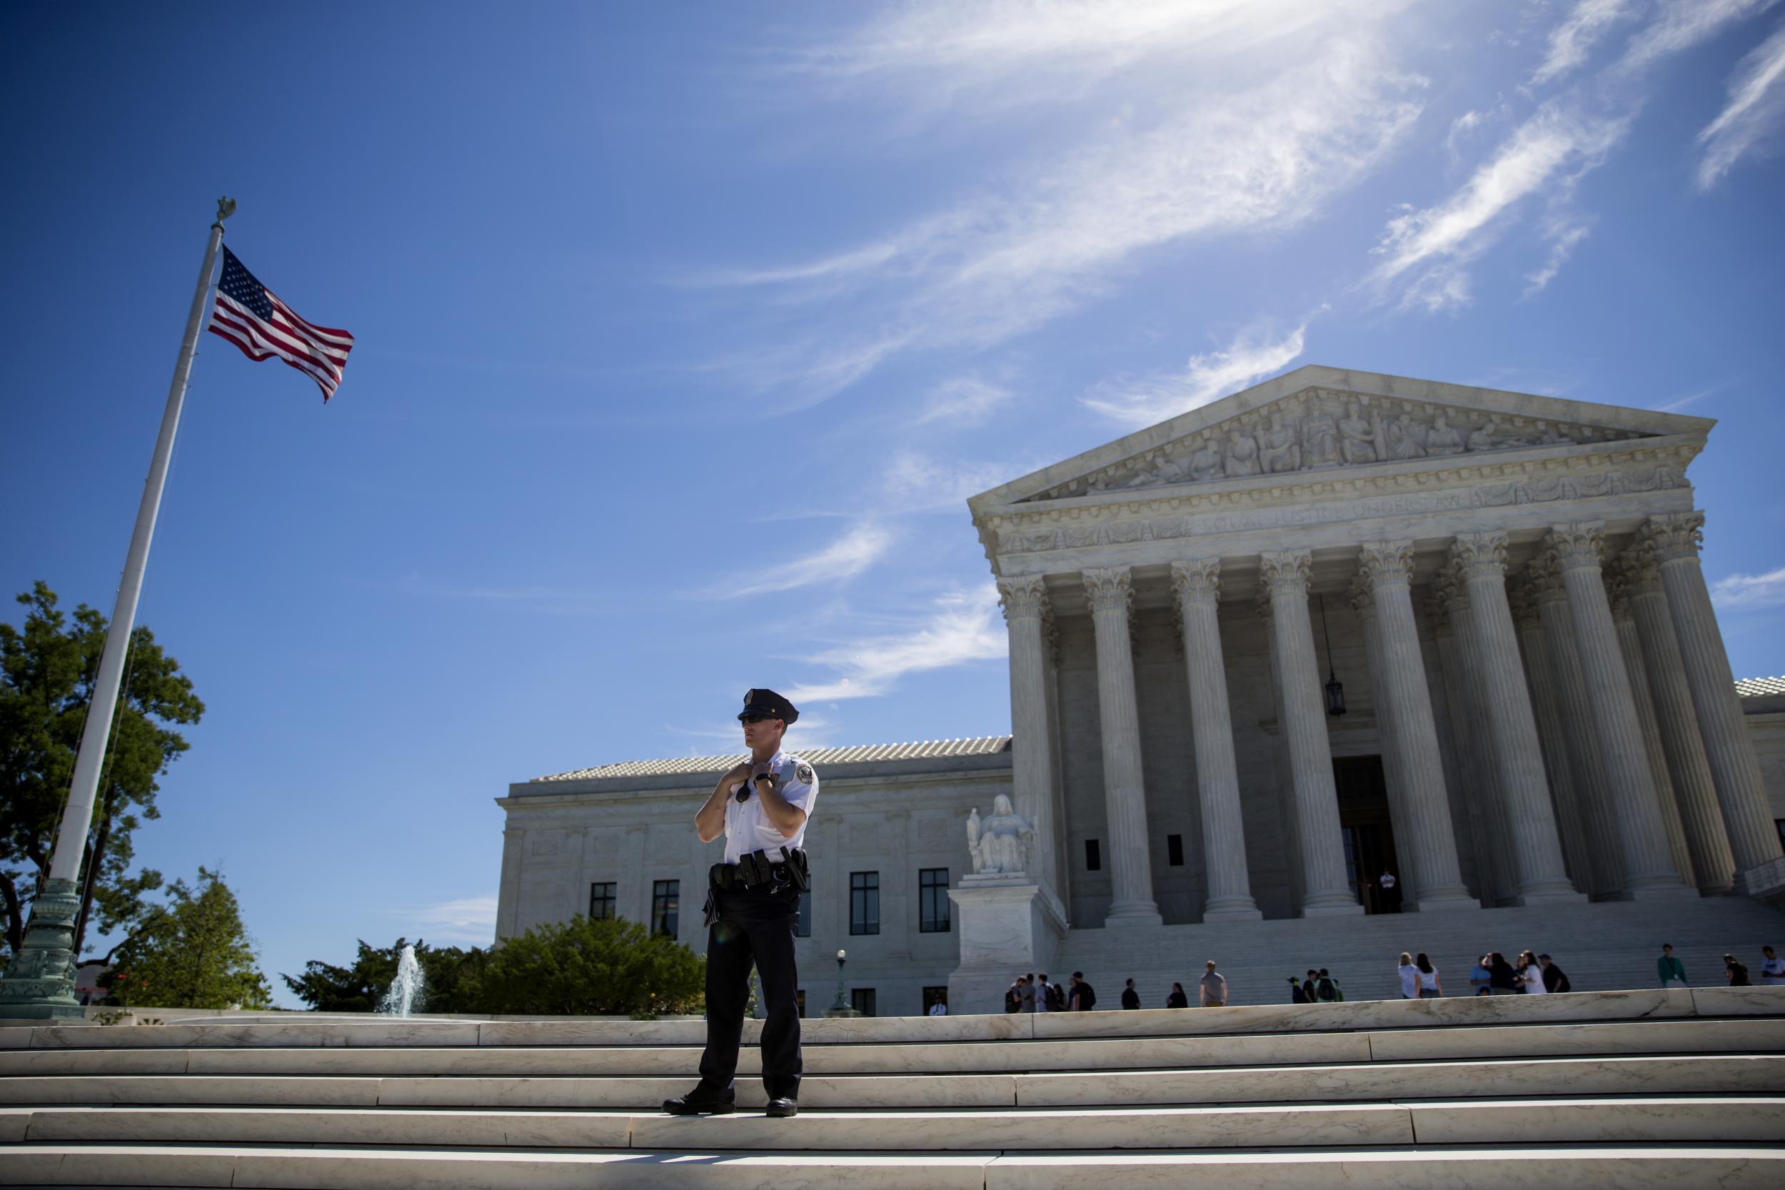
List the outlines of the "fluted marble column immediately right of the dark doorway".
<svg viewBox="0 0 1785 1190">
<path fill-rule="evenodd" d="M 1432 690 L 1419 653 L 1419 621 L 1412 594 L 1414 542 L 1387 541 L 1358 551 L 1358 571 L 1376 603 L 1376 648 L 1382 657 L 1378 705 L 1389 707 L 1391 742 L 1399 756 L 1407 830 L 1419 887 L 1412 908 L 1482 908 L 1469 897 L 1457 862 L 1449 790 L 1439 756 L 1439 730 L 1432 719 Z"/>
</svg>

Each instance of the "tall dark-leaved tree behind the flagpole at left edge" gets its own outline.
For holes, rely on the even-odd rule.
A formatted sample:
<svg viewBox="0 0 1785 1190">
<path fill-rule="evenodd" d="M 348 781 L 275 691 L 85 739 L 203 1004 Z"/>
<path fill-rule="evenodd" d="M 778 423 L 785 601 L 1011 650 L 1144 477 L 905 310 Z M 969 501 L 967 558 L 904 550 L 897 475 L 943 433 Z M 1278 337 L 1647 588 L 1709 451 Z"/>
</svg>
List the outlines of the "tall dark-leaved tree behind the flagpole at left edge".
<svg viewBox="0 0 1785 1190">
<path fill-rule="evenodd" d="M 0 905 L 9 951 L 23 940 L 30 901 L 50 871 L 105 648 L 105 617 L 87 605 L 70 617 L 43 582 L 18 601 L 29 608 L 23 628 L 0 624 Z M 161 872 L 130 874 L 132 835 L 141 819 L 161 817 L 155 778 L 187 748 L 166 724 L 198 723 L 203 712 L 191 680 L 161 651 L 155 635 L 148 628 L 132 632 L 80 865 L 75 954 L 86 946 L 89 924 L 98 933 L 129 931 L 150 912 L 143 894 L 161 887 Z"/>
</svg>

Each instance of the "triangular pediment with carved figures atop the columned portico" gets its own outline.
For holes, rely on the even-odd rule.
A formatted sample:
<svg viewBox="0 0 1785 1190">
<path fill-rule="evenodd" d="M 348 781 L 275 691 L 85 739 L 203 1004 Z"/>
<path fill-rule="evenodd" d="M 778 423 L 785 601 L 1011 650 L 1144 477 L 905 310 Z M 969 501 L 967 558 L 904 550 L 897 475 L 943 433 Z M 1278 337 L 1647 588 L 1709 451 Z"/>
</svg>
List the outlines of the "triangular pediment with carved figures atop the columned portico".
<svg viewBox="0 0 1785 1190">
<path fill-rule="evenodd" d="M 1692 435 L 1714 421 L 1310 364 L 975 496 L 1028 505 L 1150 489 L 1232 489 L 1344 469 L 1458 466 Z"/>
</svg>

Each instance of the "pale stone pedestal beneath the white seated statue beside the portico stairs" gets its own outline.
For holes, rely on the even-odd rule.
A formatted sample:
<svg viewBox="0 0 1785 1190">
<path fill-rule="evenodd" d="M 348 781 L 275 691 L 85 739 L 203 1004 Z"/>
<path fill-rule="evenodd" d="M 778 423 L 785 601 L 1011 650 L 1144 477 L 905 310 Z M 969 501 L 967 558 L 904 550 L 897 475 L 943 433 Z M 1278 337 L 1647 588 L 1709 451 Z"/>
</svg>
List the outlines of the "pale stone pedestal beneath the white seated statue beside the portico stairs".
<svg viewBox="0 0 1785 1190">
<path fill-rule="evenodd" d="M 1003 1012 L 1010 979 L 1046 971 L 1066 937 L 1066 908 L 1026 872 L 962 876 L 948 890 L 960 965 L 948 976 L 948 1012 Z"/>
</svg>

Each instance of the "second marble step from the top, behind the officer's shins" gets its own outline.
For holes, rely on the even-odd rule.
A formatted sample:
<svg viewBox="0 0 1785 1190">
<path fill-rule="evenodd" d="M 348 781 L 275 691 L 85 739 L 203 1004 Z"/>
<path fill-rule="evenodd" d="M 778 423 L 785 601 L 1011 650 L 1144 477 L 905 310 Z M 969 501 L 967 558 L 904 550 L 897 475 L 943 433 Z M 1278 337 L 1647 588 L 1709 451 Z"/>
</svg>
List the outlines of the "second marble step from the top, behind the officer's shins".
<svg viewBox="0 0 1785 1190">
<path fill-rule="evenodd" d="M 903 1042 L 807 1045 L 807 1074 L 921 1074 L 1251 1067 L 1439 1058 L 1714 1054 L 1785 1051 L 1785 1019 L 1628 1021 L 1614 1024 L 1480 1026 L 1371 1033 Z M 455 1074 L 682 1078 L 693 1045 L 632 1047 L 295 1047 L 295 1049 L 23 1049 L 0 1053 L 0 1076 L 102 1074 Z M 739 1074 L 760 1072 L 760 1051 Z"/>
</svg>

